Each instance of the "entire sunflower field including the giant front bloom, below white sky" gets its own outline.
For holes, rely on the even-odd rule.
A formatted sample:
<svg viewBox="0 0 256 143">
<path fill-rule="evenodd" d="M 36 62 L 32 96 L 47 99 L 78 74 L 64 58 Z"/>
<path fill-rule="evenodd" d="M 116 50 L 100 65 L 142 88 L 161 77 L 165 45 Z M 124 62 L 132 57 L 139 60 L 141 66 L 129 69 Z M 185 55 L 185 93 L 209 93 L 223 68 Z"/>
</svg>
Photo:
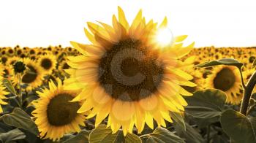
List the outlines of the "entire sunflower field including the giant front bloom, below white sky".
<svg viewBox="0 0 256 143">
<path fill-rule="evenodd" d="M 256 142 L 256 47 L 157 41 L 142 10 L 90 44 L 0 48 L 1 142 Z"/>
</svg>

